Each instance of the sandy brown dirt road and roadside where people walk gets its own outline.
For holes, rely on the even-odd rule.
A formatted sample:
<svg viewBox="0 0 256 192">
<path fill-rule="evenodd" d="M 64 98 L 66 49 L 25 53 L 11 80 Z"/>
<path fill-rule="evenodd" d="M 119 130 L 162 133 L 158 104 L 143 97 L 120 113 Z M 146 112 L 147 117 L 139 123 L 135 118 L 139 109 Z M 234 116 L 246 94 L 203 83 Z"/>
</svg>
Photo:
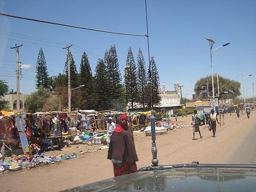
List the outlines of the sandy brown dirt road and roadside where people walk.
<svg viewBox="0 0 256 192">
<path fill-rule="evenodd" d="M 178 118 L 178 123 L 184 126 L 190 124 L 191 116 Z M 199 139 L 200 136 L 196 133 L 196 140 L 192 140 L 191 126 L 168 131 L 166 135 L 156 138 L 159 164 L 170 165 L 192 161 L 256 164 L 255 126 L 256 112 L 252 111 L 250 119 L 247 119 L 245 114 L 239 119 L 235 114 L 231 116 L 225 114 L 225 125 L 217 126 L 215 138 L 204 126 L 200 127 L 204 137 Z M 138 168 L 151 165 L 151 137 L 146 137 L 144 132 L 134 132 L 134 135 L 139 157 Z M 97 149 L 95 145 L 79 145 L 79 148 L 72 145 L 71 148 L 47 152 L 46 155 L 66 154 L 88 148 Z M 1 173 L 0 186 L 1 191 L 59 191 L 109 177 L 113 177 L 112 164 L 107 160 L 107 150 L 101 150 L 79 155 L 76 159 L 58 164 Z"/>
</svg>

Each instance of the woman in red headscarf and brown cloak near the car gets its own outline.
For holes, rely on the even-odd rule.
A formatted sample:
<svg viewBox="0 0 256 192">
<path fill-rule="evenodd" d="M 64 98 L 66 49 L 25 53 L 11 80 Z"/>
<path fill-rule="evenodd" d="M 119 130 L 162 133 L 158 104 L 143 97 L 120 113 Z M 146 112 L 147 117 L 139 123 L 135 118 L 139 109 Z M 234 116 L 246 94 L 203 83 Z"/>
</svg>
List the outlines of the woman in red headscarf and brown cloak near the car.
<svg viewBox="0 0 256 192">
<path fill-rule="evenodd" d="M 112 161 L 115 177 L 137 171 L 135 144 L 132 128 L 128 126 L 128 116 L 121 114 L 119 125 L 112 133 L 108 159 Z"/>
</svg>

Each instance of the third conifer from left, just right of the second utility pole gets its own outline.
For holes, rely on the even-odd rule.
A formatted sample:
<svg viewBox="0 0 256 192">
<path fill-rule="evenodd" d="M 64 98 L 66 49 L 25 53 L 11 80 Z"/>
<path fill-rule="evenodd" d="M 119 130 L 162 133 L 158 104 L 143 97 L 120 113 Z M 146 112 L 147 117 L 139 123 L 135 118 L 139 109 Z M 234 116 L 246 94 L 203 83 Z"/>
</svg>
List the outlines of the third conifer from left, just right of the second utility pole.
<svg viewBox="0 0 256 192">
<path fill-rule="evenodd" d="M 80 64 L 80 85 L 85 86 L 79 90 L 79 107 L 81 109 L 94 108 L 92 70 L 86 52 L 83 53 Z"/>
</svg>

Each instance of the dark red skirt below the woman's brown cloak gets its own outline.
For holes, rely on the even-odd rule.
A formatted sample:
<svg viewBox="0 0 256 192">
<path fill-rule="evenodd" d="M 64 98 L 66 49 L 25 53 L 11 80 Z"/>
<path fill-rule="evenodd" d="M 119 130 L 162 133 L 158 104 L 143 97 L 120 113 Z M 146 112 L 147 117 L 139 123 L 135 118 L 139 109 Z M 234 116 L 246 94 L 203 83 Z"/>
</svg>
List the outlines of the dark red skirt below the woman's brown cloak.
<svg viewBox="0 0 256 192">
<path fill-rule="evenodd" d="M 137 172 L 136 162 L 123 162 L 123 166 L 121 167 L 117 164 L 113 164 L 113 168 L 115 177 Z"/>
</svg>

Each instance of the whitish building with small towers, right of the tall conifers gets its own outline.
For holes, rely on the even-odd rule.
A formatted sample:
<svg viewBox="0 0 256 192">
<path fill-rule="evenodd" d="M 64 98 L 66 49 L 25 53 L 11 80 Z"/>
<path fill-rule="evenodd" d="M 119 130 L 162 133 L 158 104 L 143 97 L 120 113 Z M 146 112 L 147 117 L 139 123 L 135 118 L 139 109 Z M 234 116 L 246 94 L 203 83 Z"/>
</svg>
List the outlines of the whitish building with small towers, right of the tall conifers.
<svg viewBox="0 0 256 192">
<path fill-rule="evenodd" d="M 166 90 L 165 84 L 162 84 L 162 90 L 160 91 L 160 107 L 174 107 L 174 106 L 180 106 L 180 84 L 176 83 L 174 84 L 174 91 L 168 91 Z"/>
</svg>

